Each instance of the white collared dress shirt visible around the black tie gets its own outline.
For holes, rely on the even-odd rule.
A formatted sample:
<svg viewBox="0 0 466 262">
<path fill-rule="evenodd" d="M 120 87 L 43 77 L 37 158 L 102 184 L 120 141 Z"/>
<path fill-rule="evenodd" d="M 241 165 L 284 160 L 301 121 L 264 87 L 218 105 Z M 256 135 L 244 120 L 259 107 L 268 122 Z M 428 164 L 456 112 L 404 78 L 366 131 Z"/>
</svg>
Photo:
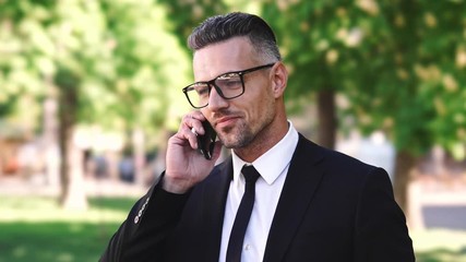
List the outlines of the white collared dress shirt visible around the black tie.
<svg viewBox="0 0 466 262">
<path fill-rule="evenodd" d="M 241 175 L 241 168 L 244 164 L 252 164 L 261 177 L 255 182 L 255 202 L 244 236 L 241 261 L 256 262 L 264 258 L 268 230 L 285 183 L 289 163 L 298 144 L 298 132 L 292 123 L 288 122 L 287 134 L 253 163 L 243 162 L 231 151 L 234 179 L 230 182 L 225 206 L 219 262 L 225 261 L 230 231 L 244 193 L 244 177 Z"/>
</svg>

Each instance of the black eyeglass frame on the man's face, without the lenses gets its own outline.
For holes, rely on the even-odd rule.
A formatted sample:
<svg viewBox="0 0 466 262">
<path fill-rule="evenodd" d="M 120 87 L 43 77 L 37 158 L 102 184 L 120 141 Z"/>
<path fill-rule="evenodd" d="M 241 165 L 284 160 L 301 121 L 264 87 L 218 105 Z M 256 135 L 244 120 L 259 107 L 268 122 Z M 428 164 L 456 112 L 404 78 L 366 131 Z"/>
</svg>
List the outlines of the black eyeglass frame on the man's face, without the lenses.
<svg viewBox="0 0 466 262">
<path fill-rule="evenodd" d="M 207 85 L 207 87 L 208 87 L 208 97 L 211 96 L 211 90 L 212 90 L 212 86 L 214 86 L 215 91 L 218 93 L 218 95 L 219 95 L 222 98 L 227 99 L 227 100 L 229 100 L 229 99 L 234 99 L 234 98 L 237 98 L 237 97 L 241 96 L 242 94 L 244 94 L 244 78 L 243 78 L 243 75 L 244 75 L 244 74 L 247 74 L 247 73 L 251 73 L 251 72 L 254 72 L 254 71 L 258 71 L 258 70 L 266 69 L 266 68 L 272 68 L 273 66 L 275 66 L 275 63 L 276 63 L 276 62 L 267 63 L 267 64 L 263 64 L 263 66 L 259 66 L 259 67 L 254 67 L 254 68 L 250 68 L 250 69 L 244 69 L 244 70 L 240 70 L 240 71 L 226 72 L 226 73 L 223 73 L 223 74 L 217 75 L 215 79 L 210 80 L 210 81 L 200 81 L 200 82 L 192 83 L 192 84 L 190 84 L 190 85 L 188 85 L 188 86 L 183 87 L 183 88 L 182 88 L 182 91 L 183 91 L 184 96 L 187 97 L 187 99 L 188 99 L 189 104 L 191 104 L 191 106 L 192 106 L 192 107 L 194 107 L 195 109 L 201 109 L 201 108 L 204 108 L 204 107 L 208 106 L 208 100 L 207 100 L 207 103 L 206 103 L 204 106 L 200 106 L 200 107 L 199 107 L 199 106 L 194 106 L 194 105 L 192 104 L 191 99 L 189 98 L 189 95 L 188 95 L 188 92 L 190 91 L 189 88 L 190 88 L 191 86 L 193 86 L 193 85 L 195 85 L 195 84 L 206 84 L 206 85 Z M 239 78 L 240 78 L 240 80 L 241 80 L 241 86 L 242 86 L 242 91 L 241 91 L 241 93 L 240 93 L 240 94 L 238 94 L 238 95 L 236 95 L 236 96 L 232 96 L 232 97 L 225 97 L 225 95 L 224 95 L 224 93 L 222 92 L 220 87 L 218 87 L 218 86 L 215 84 L 215 81 L 216 81 L 217 79 L 219 79 L 219 78 L 222 78 L 222 76 L 224 76 L 224 75 L 227 75 L 227 74 L 238 74 L 238 75 L 239 75 Z"/>
</svg>

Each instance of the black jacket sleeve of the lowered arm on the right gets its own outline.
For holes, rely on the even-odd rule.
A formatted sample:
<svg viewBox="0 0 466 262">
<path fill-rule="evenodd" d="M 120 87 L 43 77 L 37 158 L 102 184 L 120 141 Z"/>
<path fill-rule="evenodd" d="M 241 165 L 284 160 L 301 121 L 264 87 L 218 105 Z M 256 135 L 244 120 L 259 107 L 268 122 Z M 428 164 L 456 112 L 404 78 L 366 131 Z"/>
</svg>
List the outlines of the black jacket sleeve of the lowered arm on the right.
<svg viewBox="0 0 466 262">
<path fill-rule="evenodd" d="M 359 196 L 355 261 L 415 261 L 406 218 L 393 196 L 389 175 L 382 168 L 366 177 Z"/>
</svg>

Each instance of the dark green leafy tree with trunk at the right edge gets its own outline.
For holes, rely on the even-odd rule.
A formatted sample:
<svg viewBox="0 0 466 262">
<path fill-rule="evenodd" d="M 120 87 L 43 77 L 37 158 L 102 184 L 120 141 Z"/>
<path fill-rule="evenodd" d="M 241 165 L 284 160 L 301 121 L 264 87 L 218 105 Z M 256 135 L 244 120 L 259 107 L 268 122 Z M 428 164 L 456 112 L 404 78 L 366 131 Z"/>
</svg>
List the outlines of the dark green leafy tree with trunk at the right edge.
<svg viewBox="0 0 466 262">
<path fill-rule="evenodd" d="M 466 24 L 465 8 L 465 1 L 381 5 L 390 37 L 383 39 L 384 64 L 372 64 L 379 79 L 370 92 L 381 103 L 363 104 L 374 121 L 361 126 L 390 129 L 397 148 L 395 193 L 404 207 L 409 171 L 418 157 L 433 145 L 455 153 L 455 146 L 466 142 L 465 64 L 458 61 L 466 43 L 458 34 Z"/>
</svg>

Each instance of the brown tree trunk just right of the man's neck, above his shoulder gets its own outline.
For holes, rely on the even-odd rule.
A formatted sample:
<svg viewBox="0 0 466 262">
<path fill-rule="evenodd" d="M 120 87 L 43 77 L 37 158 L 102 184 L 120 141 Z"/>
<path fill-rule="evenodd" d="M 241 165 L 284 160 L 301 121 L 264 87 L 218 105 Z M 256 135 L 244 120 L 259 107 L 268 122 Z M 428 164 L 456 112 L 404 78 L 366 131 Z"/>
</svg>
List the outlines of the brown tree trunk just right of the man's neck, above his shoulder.
<svg viewBox="0 0 466 262">
<path fill-rule="evenodd" d="M 335 148 L 336 139 L 335 92 L 323 90 L 318 93 L 318 143 L 327 148 Z"/>
</svg>

